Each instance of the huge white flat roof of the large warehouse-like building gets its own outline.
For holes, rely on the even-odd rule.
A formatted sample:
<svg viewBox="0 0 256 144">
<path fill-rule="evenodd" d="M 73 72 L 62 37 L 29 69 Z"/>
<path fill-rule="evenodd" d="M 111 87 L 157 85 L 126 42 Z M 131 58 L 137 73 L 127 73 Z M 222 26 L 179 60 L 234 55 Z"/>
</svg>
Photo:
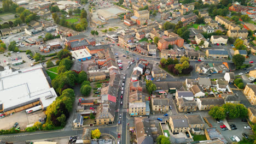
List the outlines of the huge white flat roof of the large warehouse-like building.
<svg viewBox="0 0 256 144">
<path fill-rule="evenodd" d="M 0 104 L 3 104 L 4 111 L 38 100 L 42 101 L 43 107 L 53 103 L 57 94 L 50 87 L 42 68 L 42 65 L 35 65 L 0 75 Z"/>
</svg>

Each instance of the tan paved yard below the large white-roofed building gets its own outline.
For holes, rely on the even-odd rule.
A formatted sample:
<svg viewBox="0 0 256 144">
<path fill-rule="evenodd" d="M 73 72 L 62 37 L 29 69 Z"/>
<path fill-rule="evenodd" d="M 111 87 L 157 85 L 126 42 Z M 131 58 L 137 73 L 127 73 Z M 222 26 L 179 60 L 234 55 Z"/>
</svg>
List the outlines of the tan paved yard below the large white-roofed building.
<svg viewBox="0 0 256 144">
<path fill-rule="evenodd" d="M 13 115 L 4 117 L 0 119 L 0 129 L 10 129 L 13 127 L 15 122 L 18 122 L 20 129 L 25 129 L 28 124 L 37 122 L 39 118 L 44 118 L 45 114 L 43 110 L 36 111 L 27 114 L 25 111 L 16 112 Z"/>
</svg>

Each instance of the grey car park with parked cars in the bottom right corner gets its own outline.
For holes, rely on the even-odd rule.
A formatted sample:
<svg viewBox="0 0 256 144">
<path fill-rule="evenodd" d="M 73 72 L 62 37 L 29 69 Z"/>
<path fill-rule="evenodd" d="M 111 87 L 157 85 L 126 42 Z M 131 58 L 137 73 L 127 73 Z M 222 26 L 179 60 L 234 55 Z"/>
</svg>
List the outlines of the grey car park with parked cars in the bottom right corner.
<svg viewBox="0 0 256 144">
<path fill-rule="evenodd" d="M 245 133 L 247 135 L 253 135 L 252 130 L 246 130 L 243 127 L 248 126 L 249 124 L 246 122 L 242 122 L 241 118 L 235 118 L 235 119 L 227 119 L 229 125 L 235 124 L 236 125 L 236 130 L 226 130 L 222 131 L 220 129 L 220 125 L 223 125 L 223 123 L 217 123 L 212 117 L 207 117 L 208 121 L 212 124 L 212 127 L 216 127 L 220 133 L 225 137 L 226 140 L 228 140 L 230 143 L 232 142 L 230 137 L 231 136 L 238 136 L 240 140 L 243 139 L 242 133 Z"/>
</svg>

